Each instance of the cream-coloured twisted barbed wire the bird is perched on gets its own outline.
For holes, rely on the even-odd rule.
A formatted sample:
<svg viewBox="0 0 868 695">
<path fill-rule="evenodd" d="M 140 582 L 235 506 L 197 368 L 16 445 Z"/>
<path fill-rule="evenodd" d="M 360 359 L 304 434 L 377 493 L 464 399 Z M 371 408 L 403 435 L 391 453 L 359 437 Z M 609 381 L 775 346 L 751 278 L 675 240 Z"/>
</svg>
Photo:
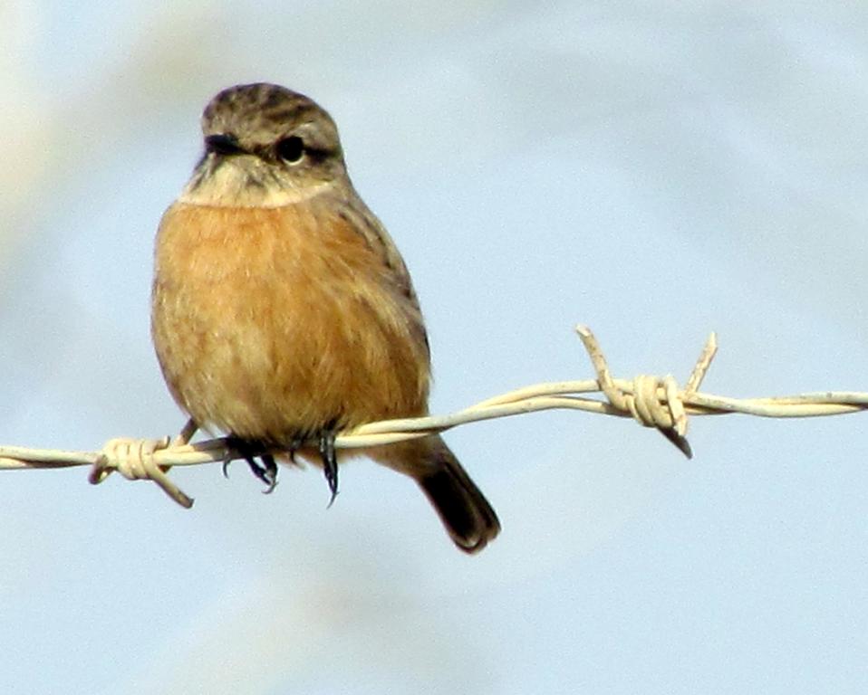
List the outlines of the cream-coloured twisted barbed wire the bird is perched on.
<svg viewBox="0 0 868 695">
<path fill-rule="evenodd" d="M 352 432 L 340 433 L 334 445 L 339 449 L 369 449 L 408 439 L 441 433 L 460 424 L 491 420 L 543 410 L 581 410 L 587 413 L 632 417 L 636 422 L 659 430 L 688 458 L 688 415 L 747 414 L 758 417 L 820 417 L 857 413 L 868 409 L 868 393 L 826 391 L 769 398 L 730 398 L 703 394 L 699 386 L 717 353 L 717 338 L 711 333 L 684 388 L 673 376 L 640 375 L 632 380 L 612 377 L 600 344 L 590 328 L 576 332 L 591 358 L 595 379 L 535 384 L 488 398 L 448 415 L 431 415 L 364 424 Z M 580 394 L 601 393 L 603 399 Z M 182 507 L 190 508 L 192 498 L 169 479 L 173 466 L 226 463 L 239 454 L 226 438 L 190 443 L 197 431 L 192 421 L 171 439 L 111 439 L 99 452 L 73 452 L 0 445 L 0 470 L 56 469 L 90 466 L 89 481 L 98 484 L 112 471 L 128 480 L 149 480 Z M 316 443 L 310 443 L 315 448 Z M 304 448 L 304 447 L 303 447 Z M 283 451 L 273 452 L 286 454 Z"/>
</svg>

